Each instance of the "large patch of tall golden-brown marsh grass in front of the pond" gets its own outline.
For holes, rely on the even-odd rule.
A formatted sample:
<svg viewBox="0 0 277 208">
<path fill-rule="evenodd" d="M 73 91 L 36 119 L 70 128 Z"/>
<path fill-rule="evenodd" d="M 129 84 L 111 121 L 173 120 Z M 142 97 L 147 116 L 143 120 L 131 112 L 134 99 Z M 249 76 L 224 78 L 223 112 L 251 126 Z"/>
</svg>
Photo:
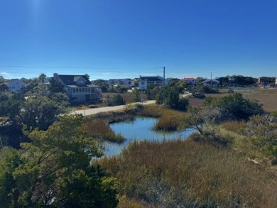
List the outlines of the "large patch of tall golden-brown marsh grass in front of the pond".
<svg viewBox="0 0 277 208">
<path fill-rule="evenodd" d="M 99 164 L 119 194 L 155 207 L 276 207 L 276 175 L 209 142 L 132 143 Z"/>
</svg>

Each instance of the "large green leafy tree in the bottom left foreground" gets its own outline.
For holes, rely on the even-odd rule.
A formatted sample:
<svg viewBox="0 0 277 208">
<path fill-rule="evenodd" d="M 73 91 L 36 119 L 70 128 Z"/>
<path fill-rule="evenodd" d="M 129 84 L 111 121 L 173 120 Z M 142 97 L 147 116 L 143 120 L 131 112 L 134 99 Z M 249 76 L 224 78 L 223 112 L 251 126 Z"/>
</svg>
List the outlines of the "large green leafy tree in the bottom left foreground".
<svg viewBox="0 0 277 208">
<path fill-rule="evenodd" d="M 33 142 L 23 150 L 0 158 L 2 206 L 116 207 L 116 180 L 91 165 L 102 153 L 80 131 L 82 119 L 61 116 L 47 131 L 28 133 Z"/>
</svg>

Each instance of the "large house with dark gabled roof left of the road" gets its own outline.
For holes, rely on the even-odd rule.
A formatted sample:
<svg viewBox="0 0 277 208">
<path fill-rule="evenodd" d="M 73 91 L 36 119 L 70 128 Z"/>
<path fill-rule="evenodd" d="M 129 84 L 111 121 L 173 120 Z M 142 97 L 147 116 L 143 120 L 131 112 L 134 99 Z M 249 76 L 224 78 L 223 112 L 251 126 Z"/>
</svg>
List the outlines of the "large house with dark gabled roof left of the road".
<svg viewBox="0 0 277 208">
<path fill-rule="evenodd" d="M 71 102 L 100 102 L 102 93 L 98 86 L 92 84 L 85 75 L 58 75 L 54 78 L 65 87 Z"/>
</svg>

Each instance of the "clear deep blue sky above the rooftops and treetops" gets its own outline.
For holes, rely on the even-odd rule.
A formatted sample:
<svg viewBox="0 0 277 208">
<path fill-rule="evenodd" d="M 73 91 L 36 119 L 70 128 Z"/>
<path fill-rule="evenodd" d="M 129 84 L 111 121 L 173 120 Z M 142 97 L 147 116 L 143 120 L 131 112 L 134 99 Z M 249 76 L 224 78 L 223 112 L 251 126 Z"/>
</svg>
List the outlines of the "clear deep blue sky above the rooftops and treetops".
<svg viewBox="0 0 277 208">
<path fill-rule="evenodd" d="M 0 75 L 277 76 L 277 1 L 1 0 Z"/>
</svg>

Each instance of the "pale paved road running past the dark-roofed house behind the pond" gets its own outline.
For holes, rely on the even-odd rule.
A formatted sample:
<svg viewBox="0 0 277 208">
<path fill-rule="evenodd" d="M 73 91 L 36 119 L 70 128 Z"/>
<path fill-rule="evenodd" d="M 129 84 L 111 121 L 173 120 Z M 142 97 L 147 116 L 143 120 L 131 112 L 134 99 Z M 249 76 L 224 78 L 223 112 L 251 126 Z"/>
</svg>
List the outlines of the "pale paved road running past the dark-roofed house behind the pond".
<svg viewBox="0 0 277 208">
<path fill-rule="evenodd" d="M 148 100 L 148 101 L 145 101 L 143 103 L 141 103 L 141 102 L 137 102 L 137 103 L 146 105 L 146 104 L 153 104 L 155 102 L 156 102 L 155 100 Z M 133 103 L 133 104 L 135 104 L 135 103 Z M 125 106 L 126 105 L 108 106 L 108 107 L 102 107 L 102 108 L 96 108 L 96 109 L 85 109 L 85 114 L 84 114 L 84 110 L 77 110 L 77 111 L 72 111 L 71 114 L 82 114 L 82 115 L 88 116 L 88 115 L 97 114 L 97 113 L 100 113 L 100 112 L 118 111 L 120 109 L 124 109 Z"/>
</svg>

